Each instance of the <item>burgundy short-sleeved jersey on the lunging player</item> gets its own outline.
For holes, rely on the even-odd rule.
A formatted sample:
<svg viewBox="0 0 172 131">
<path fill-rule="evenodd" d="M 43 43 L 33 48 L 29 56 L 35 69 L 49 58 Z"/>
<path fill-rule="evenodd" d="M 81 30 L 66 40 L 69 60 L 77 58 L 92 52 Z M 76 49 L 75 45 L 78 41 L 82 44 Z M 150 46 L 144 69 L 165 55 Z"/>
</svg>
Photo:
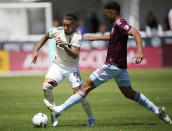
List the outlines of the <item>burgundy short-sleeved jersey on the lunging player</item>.
<svg viewBox="0 0 172 131">
<path fill-rule="evenodd" d="M 122 18 L 114 22 L 105 64 L 114 64 L 121 69 L 127 68 L 127 41 L 130 29 L 131 26 Z"/>
</svg>

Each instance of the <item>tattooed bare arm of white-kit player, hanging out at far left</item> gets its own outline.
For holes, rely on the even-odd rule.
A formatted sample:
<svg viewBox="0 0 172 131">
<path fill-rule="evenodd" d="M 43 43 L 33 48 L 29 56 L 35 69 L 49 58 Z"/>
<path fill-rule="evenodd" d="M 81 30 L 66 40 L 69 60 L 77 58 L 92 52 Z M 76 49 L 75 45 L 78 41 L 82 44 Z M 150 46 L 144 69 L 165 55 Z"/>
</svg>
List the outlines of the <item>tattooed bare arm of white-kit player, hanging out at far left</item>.
<svg viewBox="0 0 172 131">
<path fill-rule="evenodd" d="M 32 62 L 36 64 L 37 63 L 37 58 L 38 58 L 38 51 L 41 49 L 41 47 L 47 42 L 47 40 L 49 39 L 48 33 L 45 34 L 40 42 L 38 43 L 37 47 L 35 48 L 35 50 L 33 51 L 33 57 L 32 57 Z"/>
</svg>

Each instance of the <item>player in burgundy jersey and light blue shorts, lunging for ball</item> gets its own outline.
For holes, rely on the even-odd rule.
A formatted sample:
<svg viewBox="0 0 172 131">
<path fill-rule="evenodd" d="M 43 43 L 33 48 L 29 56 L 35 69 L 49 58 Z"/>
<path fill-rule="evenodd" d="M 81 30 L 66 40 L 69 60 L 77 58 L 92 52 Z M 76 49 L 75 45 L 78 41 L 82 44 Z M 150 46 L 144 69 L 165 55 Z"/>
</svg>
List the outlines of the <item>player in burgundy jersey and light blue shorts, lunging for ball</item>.
<svg viewBox="0 0 172 131">
<path fill-rule="evenodd" d="M 80 91 L 72 95 L 60 106 L 50 106 L 49 109 L 56 115 L 60 115 L 64 110 L 82 101 L 86 95 L 110 79 L 114 79 L 126 98 L 136 101 L 143 107 L 151 110 L 155 115 L 168 124 L 172 124 L 170 117 L 166 114 L 164 107 L 157 107 L 143 94 L 135 91 L 130 83 L 127 72 L 127 41 L 128 35 L 135 38 L 137 54 L 134 57 L 135 63 L 140 64 L 143 60 L 142 40 L 139 32 L 130 26 L 125 19 L 120 17 L 120 5 L 111 2 L 105 5 L 105 15 L 107 19 L 113 21 L 110 35 L 93 37 L 85 36 L 86 40 L 109 40 L 106 62 L 94 71 Z"/>
</svg>

